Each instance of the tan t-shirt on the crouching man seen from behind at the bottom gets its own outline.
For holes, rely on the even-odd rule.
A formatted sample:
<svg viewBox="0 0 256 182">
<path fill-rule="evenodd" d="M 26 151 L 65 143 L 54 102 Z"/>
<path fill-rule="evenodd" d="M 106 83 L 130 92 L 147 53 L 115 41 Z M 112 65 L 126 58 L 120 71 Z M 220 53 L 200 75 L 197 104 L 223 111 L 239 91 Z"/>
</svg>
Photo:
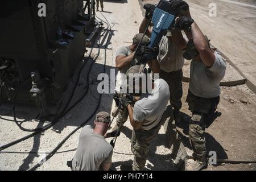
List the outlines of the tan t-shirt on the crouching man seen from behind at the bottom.
<svg viewBox="0 0 256 182">
<path fill-rule="evenodd" d="M 113 147 L 105 138 L 86 125 L 80 133 L 72 168 L 74 171 L 98 171 L 102 163 L 112 163 L 112 153 Z"/>
</svg>

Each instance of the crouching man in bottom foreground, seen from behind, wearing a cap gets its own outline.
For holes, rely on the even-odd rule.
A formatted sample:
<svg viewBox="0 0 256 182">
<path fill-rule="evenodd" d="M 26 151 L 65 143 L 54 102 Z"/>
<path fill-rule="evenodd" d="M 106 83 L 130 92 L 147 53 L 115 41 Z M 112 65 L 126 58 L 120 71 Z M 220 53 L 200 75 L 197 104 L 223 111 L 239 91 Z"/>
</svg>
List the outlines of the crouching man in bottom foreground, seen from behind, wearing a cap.
<svg viewBox="0 0 256 182">
<path fill-rule="evenodd" d="M 108 171 L 112 164 L 113 147 L 105 138 L 113 137 L 108 133 L 110 114 L 100 112 L 96 115 L 94 129 L 86 125 L 82 128 L 76 155 L 72 160 L 73 171 Z"/>
</svg>

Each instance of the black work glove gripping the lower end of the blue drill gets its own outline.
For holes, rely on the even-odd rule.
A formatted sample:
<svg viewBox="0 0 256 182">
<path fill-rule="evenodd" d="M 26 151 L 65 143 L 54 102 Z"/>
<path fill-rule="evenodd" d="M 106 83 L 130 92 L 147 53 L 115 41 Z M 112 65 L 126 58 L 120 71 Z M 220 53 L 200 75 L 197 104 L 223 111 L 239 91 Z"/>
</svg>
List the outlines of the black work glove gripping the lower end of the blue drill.
<svg viewBox="0 0 256 182">
<path fill-rule="evenodd" d="M 148 60 L 156 59 L 159 55 L 159 47 L 150 48 L 146 46 L 140 46 L 137 51 L 137 56 L 141 56 L 142 59 L 139 60 L 142 64 L 146 63 Z"/>
</svg>

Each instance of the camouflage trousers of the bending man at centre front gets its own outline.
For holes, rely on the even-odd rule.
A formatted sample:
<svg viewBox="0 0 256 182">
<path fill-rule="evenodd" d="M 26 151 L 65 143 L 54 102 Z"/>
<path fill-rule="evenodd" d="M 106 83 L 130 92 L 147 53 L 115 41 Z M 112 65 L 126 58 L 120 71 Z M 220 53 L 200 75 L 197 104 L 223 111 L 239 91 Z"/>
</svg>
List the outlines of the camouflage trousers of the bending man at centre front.
<svg viewBox="0 0 256 182">
<path fill-rule="evenodd" d="M 158 134 L 161 122 L 151 130 L 134 130 L 131 136 L 131 152 L 134 154 L 133 171 L 144 169 L 151 140 Z"/>
</svg>

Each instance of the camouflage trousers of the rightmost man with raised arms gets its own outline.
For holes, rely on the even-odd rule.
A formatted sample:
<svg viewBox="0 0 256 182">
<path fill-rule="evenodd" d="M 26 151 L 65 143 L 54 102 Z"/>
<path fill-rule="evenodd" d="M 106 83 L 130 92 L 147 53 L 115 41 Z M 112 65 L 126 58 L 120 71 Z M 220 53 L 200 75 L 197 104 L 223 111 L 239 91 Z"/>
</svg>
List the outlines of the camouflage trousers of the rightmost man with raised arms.
<svg viewBox="0 0 256 182">
<path fill-rule="evenodd" d="M 205 161 L 207 149 L 205 147 L 205 127 L 214 121 L 214 113 L 217 109 L 220 97 L 201 98 L 188 92 L 187 102 L 192 117 L 189 122 L 189 142 L 194 152 L 193 156 L 200 161 Z"/>
</svg>

